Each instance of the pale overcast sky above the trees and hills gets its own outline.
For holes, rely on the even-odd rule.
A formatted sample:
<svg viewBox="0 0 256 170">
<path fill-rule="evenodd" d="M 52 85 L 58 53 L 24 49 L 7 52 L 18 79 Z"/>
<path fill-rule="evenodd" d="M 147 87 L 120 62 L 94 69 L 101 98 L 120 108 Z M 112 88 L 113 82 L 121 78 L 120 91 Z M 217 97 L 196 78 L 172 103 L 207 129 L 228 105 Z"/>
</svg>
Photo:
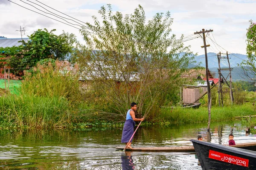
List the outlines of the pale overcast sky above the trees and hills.
<svg viewBox="0 0 256 170">
<path fill-rule="evenodd" d="M 26 30 L 25 34 L 30 35 L 37 29 L 47 28 L 48 30 L 57 29 L 55 34 L 61 34 L 62 30 L 76 34 L 79 41 L 83 41 L 77 28 L 65 25 L 56 20 L 61 20 L 52 15 L 46 14 L 40 10 L 54 12 L 55 14 L 73 18 L 83 22 L 93 23 L 93 15 L 98 16 L 98 10 L 101 6 L 111 4 L 114 11 L 120 11 L 122 14 L 131 14 L 139 4 L 143 6 L 147 20 L 150 20 L 157 12 L 171 12 L 174 19 L 172 24 L 172 34 L 180 37 L 191 36 L 187 38 L 185 45 L 191 45 L 191 51 L 204 54 L 203 40 L 196 37 L 194 32 L 212 29 L 207 36 L 207 52 L 246 54 L 246 29 L 249 27 L 249 20 L 256 20 L 256 0 L 0 0 L 0 36 L 8 38 L 19 38 L 20 26 Z M 39 3 L 41 2 L 41 3 Z M 28 3 L 28 4 L 27 4 Z M 44 8 L 41 8 L 41 5 Z M 61 11 L 58 13 L 45 5 Z M 38 9 L 30 6 L 37 7 Z M 23 8 L 23 7 L 26 8 Z M 52 17 L 56 20 L 45 17 L 41 14 Z M 48 12 L 49 13 L 49 12 Z M 71 19 L 71 18 L 70 18 Z M 68 20 L 72 22 L 71 20 Z M 76 26 L 77 27 L 77 26 Z M 23 35 L 23 37 L 26 37 Z M 192 40 L 190 40 L 192 39 Z"/>
</svg>

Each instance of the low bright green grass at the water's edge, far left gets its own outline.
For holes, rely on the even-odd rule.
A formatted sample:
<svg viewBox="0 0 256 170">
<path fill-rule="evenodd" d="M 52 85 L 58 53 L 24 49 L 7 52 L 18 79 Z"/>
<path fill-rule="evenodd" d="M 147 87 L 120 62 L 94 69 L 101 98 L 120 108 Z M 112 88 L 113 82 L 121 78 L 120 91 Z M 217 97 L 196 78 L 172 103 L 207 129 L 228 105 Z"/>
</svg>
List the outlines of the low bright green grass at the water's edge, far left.
<svg viewBox="0 0 256 170">
<path fill-rule="evenodd" d="M 70 123 L 68 101 L 65 98 L 9 95 L 0 98 L 0 114 L 15 126 L 35 128 L 65 127 Z"/>
</svg>

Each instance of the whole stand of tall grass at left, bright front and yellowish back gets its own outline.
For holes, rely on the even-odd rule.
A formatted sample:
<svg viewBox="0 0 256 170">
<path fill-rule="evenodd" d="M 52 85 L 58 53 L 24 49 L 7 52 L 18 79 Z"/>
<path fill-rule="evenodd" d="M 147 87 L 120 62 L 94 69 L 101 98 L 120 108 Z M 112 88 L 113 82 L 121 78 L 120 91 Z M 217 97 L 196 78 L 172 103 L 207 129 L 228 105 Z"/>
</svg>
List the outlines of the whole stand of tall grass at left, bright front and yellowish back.
<svg viewBox="0 0 256 170">
<path fill-rule="evenodd" d="M 57 62 L 26 72 L 18 95 L 0 97 L 0 122 L 35 128 L 67 127 L 79 105 L 79 81 Z M 59 67 L 58 67 L 59 65 Z"/>
</svg>

